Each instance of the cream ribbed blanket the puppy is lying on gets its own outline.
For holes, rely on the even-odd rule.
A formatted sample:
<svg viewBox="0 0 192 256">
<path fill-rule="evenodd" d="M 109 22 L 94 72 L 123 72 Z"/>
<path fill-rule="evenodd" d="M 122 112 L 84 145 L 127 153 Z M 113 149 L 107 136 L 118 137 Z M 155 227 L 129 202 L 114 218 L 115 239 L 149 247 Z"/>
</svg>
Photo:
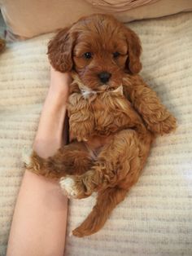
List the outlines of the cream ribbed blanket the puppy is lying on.
<svg viewBox="0 0 192 256">
<path fill-rule="evenodd" d="M 95 198 L 70 201 L 65 256 L 192 255 L 192 13 L 130 27 L 142 40 L 142 77 L 177 117 L 178 128 L 156 140 L 139 182 L 100 232 L 69 236 Z M 0 55 L 1 256 L 24 174 L 22 150 L 32 146 L 49 86 L 51 36 L 16 42 Z"/>
</svg>

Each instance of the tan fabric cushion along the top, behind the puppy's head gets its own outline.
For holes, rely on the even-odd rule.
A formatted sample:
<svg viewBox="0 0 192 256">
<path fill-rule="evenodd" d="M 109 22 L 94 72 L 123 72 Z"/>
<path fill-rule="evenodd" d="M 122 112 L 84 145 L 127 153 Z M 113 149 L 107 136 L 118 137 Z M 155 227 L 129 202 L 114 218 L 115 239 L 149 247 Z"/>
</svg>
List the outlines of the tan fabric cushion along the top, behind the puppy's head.
<svg viewBox="0 0 192 256">
<path fill-rule="evenodd" d="M 128 11 L 119 11 L 118 7 L 112 8 L 111 6 L 112 11 L 111 8 L 98 4 L 103 0 L 89 0 L 89 2 L 85 0 L 0 0 L 0 7 L 9 31 L 18 35 L 17 38 L 20 39 L 53 32 L 55 29 L 72 24 L 83 15 L 93 13 L 109 12 L 115 15 L 118 20 L 128 22 L 181 11 L 192 11 L 191 0 L 159 0 Z M 122 1 L 110 0 L 107 2 L 118 5 L 118 2 Z M 9 37 L 14 38 L 11 37 L 11 33 L 9 33 Z"/>
</svg>

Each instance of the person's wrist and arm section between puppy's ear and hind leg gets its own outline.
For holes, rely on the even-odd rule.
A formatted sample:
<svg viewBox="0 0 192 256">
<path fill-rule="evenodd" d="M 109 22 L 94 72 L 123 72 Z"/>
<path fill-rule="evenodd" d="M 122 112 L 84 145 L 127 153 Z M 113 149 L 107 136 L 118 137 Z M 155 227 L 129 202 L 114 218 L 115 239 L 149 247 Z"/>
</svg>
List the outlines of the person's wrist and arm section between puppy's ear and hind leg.
<svg viewBox="0 0 192 256">
<path fill-rule="evenodd" d="M 55 76 L 56 73 L 56 77 Z M 66 116 L 66 105 L 68 100 L 68 87 L 63 84 L 70 83 L 67 74 L 52 72 L 50 89 L 41 112 L 41 118 L 37 135 L 33 143 L 33 150 L 41 157 L 50 157 L 62 146 L 63 124 Z M 46 129 L 45 129 L 46 127 Z"/>
</svg>

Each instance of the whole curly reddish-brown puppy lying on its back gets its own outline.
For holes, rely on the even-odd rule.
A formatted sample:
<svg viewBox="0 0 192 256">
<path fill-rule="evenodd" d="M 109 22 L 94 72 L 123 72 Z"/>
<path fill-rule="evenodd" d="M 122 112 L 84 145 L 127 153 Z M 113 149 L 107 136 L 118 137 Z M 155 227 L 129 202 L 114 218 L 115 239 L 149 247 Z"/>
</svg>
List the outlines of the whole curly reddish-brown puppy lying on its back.
<svg viewBox="0 0 192 256">
<path fill-rule="evenodd" d="M 28 169 L 61 178 L 69 197 L 98 192 L 94 209 L 73 231 L 75 236 L 103 227 L 137 182 L 155 136 L 176 127 L 176 119 L 137 75 L 141 51 L 137 35 L 110 15 L 82 18 L 49 43 L 52 66 L 72 72 L 71 143 L 47 159 L 33 152 Z"/>
</svg>

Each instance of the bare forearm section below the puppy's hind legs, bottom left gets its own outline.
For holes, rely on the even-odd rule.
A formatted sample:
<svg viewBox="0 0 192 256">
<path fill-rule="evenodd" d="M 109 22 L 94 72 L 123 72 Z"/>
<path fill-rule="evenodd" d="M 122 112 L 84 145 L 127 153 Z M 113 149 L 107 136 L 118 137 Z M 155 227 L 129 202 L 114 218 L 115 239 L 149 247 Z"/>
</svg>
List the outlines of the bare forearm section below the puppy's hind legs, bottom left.
<svg viewBox="0 0 192 256">
<path fill-rule="evenodd" d="M 7 256 L 63 256 L 68 199 L 57 183 L 28 170 L 20 187 Z"/>
</svg>

